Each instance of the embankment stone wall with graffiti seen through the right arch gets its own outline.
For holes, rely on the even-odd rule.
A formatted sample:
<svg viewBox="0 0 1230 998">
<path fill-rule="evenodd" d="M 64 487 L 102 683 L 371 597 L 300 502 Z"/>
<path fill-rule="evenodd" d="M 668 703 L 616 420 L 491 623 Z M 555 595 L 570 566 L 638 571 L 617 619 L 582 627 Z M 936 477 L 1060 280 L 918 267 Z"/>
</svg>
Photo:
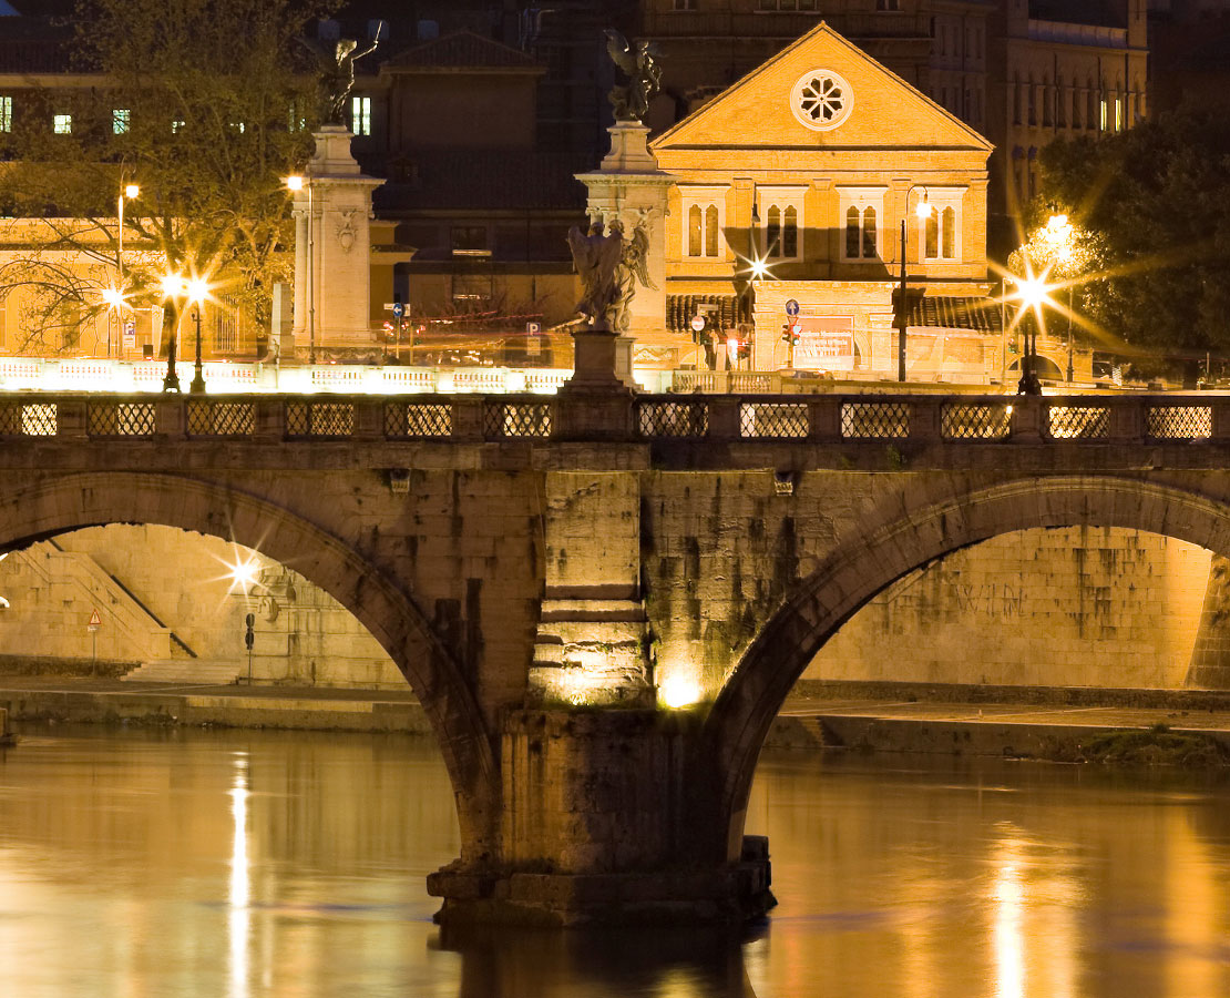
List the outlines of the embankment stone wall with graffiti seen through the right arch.
<svg viewBox="0 0 1230 998">
<path fill-rule="evenodd" d="M 895 582 L 803 678 L 1182 687 L 1210 559 L 1138 530 L 1002 534 Z"/>
</svg>

